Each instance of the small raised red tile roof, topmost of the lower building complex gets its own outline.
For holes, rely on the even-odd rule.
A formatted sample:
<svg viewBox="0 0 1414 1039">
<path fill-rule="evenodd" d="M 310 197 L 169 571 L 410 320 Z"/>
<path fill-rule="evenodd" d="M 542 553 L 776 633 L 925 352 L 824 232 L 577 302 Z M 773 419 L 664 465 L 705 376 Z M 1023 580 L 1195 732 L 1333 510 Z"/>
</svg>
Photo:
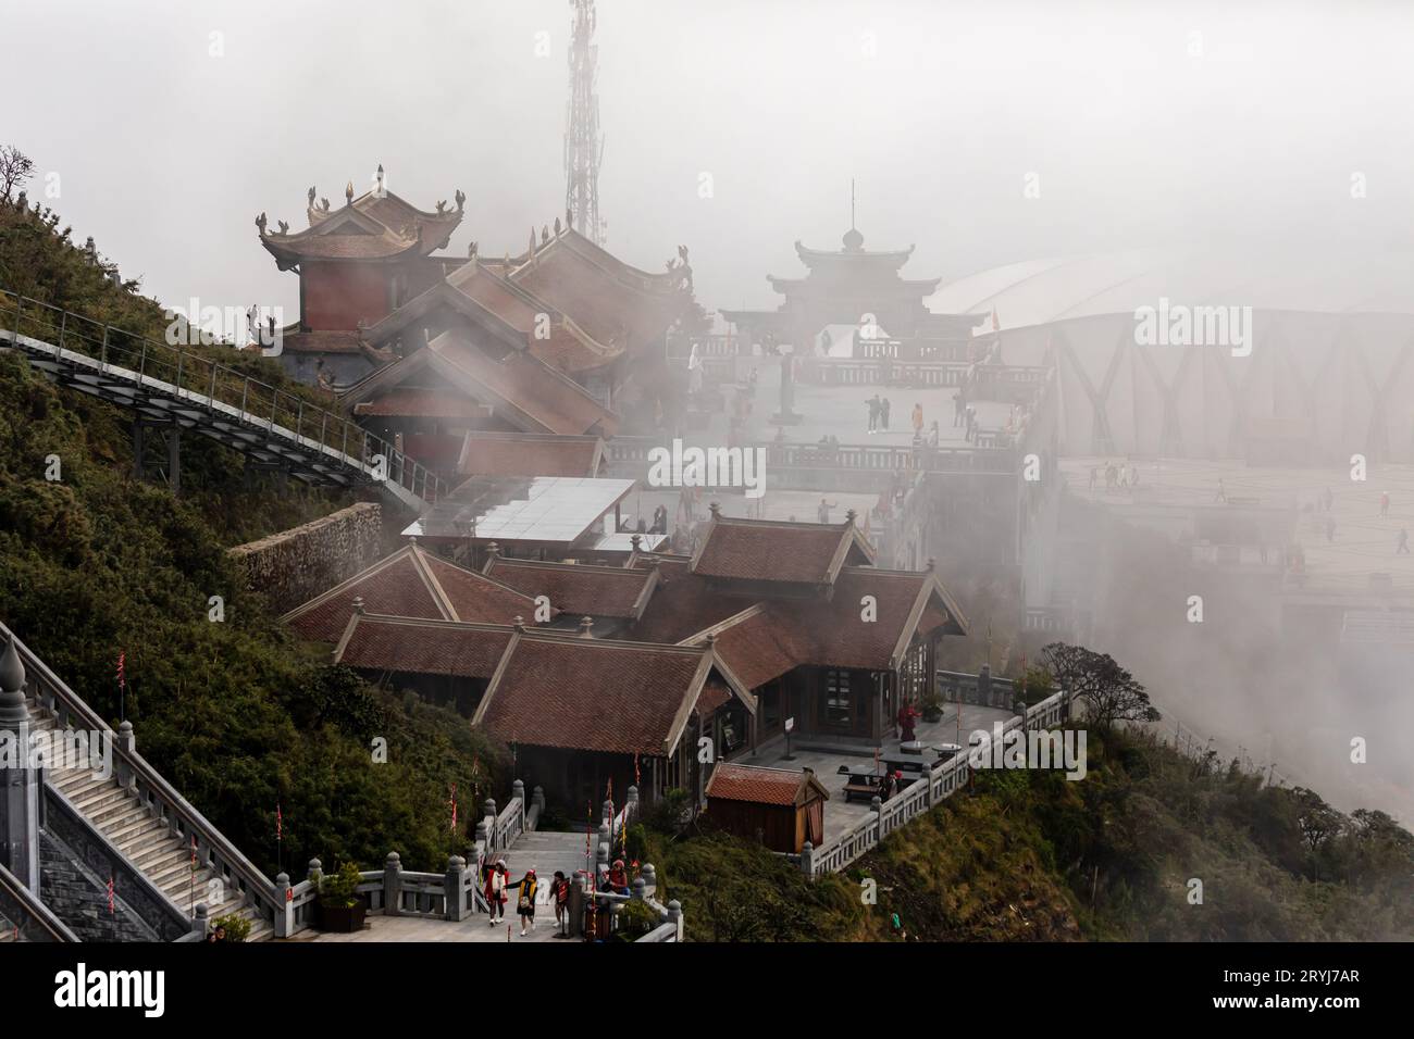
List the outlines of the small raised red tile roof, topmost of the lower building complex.
<svg viewBox="0 0 1414 1039">
<path fill-rule="evenodd" d="M 871 563 L 851 520 L 782 523 L 718 516 L 707 530 L 693 573 L 735 581 L 831 584 L 847 561 Z"/>
</svg>

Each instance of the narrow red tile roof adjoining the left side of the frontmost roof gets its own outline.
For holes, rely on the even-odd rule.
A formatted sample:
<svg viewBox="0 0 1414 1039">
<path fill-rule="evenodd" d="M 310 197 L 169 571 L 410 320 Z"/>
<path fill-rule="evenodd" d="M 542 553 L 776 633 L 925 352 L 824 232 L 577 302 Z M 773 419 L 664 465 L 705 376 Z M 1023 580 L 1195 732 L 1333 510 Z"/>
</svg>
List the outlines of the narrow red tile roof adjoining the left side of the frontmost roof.
<svg viewBox="0 0 1414 1039">
<path fill-rule="evenodd" d="M 515 632 L 509 625 L 354 615 L 334 663 L 368 671 L 489 679 Z"/>
</svg>

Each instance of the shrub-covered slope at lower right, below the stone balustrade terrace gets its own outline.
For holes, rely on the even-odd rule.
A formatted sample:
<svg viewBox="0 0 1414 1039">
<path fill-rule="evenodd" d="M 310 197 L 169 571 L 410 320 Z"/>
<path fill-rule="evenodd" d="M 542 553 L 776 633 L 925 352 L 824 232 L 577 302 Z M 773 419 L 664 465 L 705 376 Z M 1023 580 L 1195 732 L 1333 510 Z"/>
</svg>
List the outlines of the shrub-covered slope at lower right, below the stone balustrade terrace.
<svg viewBox="0 0 1414 1039">
<path fill-rule="evenodd" d="M 1087 752 L 1080 782 L 978 773 L 813 885 L 707 821 L 676 838 L 650 828 L 636 851 L 697 940 L 1414 939 L 1414 835 L 1384 813 L 1343 816 L 1144 732 L 1092 732 Z M 877 905 L 863 902 L 865 878 Z"/>
</svg>

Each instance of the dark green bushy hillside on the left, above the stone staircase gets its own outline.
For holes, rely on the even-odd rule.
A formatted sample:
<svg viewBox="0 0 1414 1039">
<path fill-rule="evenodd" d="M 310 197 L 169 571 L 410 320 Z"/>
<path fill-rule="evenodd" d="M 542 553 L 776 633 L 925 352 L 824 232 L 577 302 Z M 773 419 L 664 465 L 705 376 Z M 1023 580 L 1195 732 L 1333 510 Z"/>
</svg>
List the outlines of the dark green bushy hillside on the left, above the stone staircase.
<svg viewBox="0 0 1414 1039">
<path fill-rule="evenodd" d="M 57 221 L 4 204 L 0 286 L 158 339 L 165 327 Z M 283 379 L 259 356 L 226 355 Z M 58 482 L 45 479 L 51 454 Z M 126 653 L 139 749 L 270 874 L 277 802 L 296 876 L 312 857 L 373 868 L 392 850 L 409 868 L 441 869 L 450 786 L 477 803 L 501 766 L 455 714 L 301 656 L 262 597 L 242 591 L 226 548 L 348 500 L 297 483 L 246 491 L 240 458 L 199 437 L 184 438 L 174 498 L 132 478 L 127 416 L 0 355 L 0 619 L 110 722 Z M 225 598 L 225 622 L 208 621 L 211 595 Z M 372 762 L 375 736 L 387 763 Z"/>
</svg>

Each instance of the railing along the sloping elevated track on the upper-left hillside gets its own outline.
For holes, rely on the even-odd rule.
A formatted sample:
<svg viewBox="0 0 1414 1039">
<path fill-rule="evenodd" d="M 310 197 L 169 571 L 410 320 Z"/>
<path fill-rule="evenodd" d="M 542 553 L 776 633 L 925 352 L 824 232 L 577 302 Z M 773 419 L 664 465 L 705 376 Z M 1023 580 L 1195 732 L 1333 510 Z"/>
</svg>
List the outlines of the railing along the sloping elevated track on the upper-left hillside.
<svg viewBox="0 0 1414 1039">
<path fill-rule="evenodd" d="M 426 502 L 436 500 L 441 495 L 441 479 L 430 469 L 342 414 L 328 411 L 304 400 L 304 397 L 280 390 L 253 376 L 242 375 L 229 365 L 222 365 L 211 358 L 168 344 L 158 344 L 137 332 L 115 328 L 110 324 L 62 310 L 42 300 L 20 295 L 7 288 L 0 288 L 0 303 L 6 304 L 0 307 L 0 315 L 10 312 L 10 301 L 13 301 L 14 325 L 10 329 L 0 325 L 0 339 L 7 338 L 16 346 L 23 346 L 21 339 L 30 339 L 40 346 L 49 348 L 55 359 L 62 359 L 65 352 L 86 356 L 99 362 L 98 372 L 102 375 L 134 376 L 124 380 L 154 386 L 164 393 L 170 392 L 170 396 L 178 400 L 197 403 L 204 400 L 211 410 L 216 410 L 215 404 L 218 403 L 225 404 L 236 411 L 240 421 L 279 435 L 281 440 L 293 440 L 304 450 L 317 448 L 321 455 L 332 457 L 339 464 L 358 469 L 365 478 L 372 476 L 370 469 L 375 469 L 369 459 L 382 455 L 386 462 L 386 482 L 396 482 Z M 27 307 L 37 310 L 38 314 L 25 314 Z M 57 319 L 51 315 L 57 315 Z M 47 321 L 42 319 L 45 317 Z M 49 344 L 42 338 L 25 336 L 23 334 L 25 318 L 30 319 L 34 331 L 58 332 L 55 342 Z M 85 336 L 83 325 L 90 327 L 90 335 Z M 81 348 L 66 349 L 65 339 L 76 339 Z M 109 360 L 110 355 L 122 356 L 124 341 L 129 342 L 126 348 L 129 356 L 137 360 L 136 370 Z M 134 345 L 139 349 L 134 349 Z M 82 349 L 83 346 L 88 349 Z M 184 369 L 188 373 L 185 389 L 182 387 Z M 202 376 L 194 380 L 192 375 L 198 372 L 202 372 Z M 165 383 L 158 379 L 157 373 L 170 373 L 175 382 Z M 218 396 L 218 390 L 222 392 L 221 396 Z M 223 397 L 232 397 L 232 400 Z M 233 400 L 236 397 L 239 404 Z M 259 410 L 255 407 L 264 403 L 262 397 L 269 397 L 269 418 L 264 407 Z M 284 417 L 286 420 L 293 418 L 293 430 L 277 423 L 277 418 L 281 417 L 281 397 L 286 400 Z M 354 455 L 346 452 L 351 441 L 354 445 L 362 444 L 362 452 L 356 461 Z"/>
</svg>

